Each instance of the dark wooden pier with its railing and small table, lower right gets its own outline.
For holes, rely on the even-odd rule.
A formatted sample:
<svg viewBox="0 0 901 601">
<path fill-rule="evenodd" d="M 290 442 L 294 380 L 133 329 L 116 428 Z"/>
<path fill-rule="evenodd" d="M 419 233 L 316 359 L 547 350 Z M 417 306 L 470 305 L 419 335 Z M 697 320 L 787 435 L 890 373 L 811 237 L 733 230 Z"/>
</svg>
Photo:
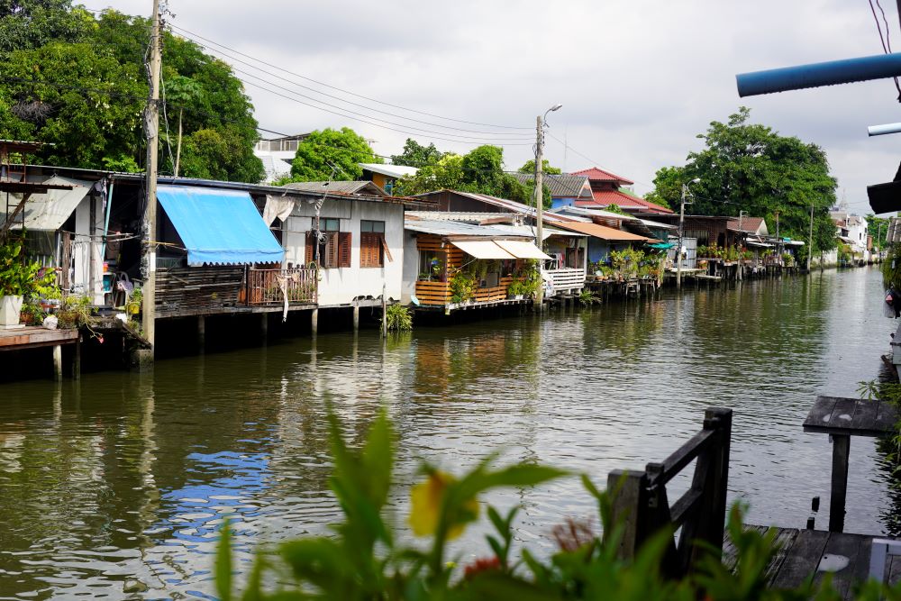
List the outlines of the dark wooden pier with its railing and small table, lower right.
<svg viewBox="0 0 901 601">
<path fill-rule="evenodd" d="M 773 527 L 777 551 L 766 572 L 770 587 L 796 588 L 807 578 L 818 583 L 831 574 L 835 590 L 843 599 L 850 599 L 854 583 L 871 575 L 882 575 L 888 584 L 901 582 L 901 555 L 890 551 L 886 554 L 891 542 L 884 537 L 842 532 L 850 438 L 892 433 L 896 422 L 895 407 L 886 402 L 816 398 L 805 419 L 804 431 L 828 434 L 833 441 L 829 530 L 815 530 L 813 519 L 805 530 Z M 633 557 L 660 528 L 669 527 L 675 532 L 681 527 L 678 542 L 672 541 L 664 555 L 663 574 L 681 578 L 696 569 L 705 556 L 720 550 L 724 565 L 735 566 L 737 551 L 722 530 L 731 432 L 732 411 L 708 409 L 704 429 L 666 460 L 649 463 L 644 471 L 610 473 L 607 490 L 613 491 L 613 518 L 623 524 L 619 547 L 622 557 Z M 667 484 L 692 461 L 695 474 L 691 487 L 670 504 Z M 746 524 L 744 528 L 765 533 L 770 526 Z M 874 553 L 877 548 L 881 551 Z"/>
</svg>

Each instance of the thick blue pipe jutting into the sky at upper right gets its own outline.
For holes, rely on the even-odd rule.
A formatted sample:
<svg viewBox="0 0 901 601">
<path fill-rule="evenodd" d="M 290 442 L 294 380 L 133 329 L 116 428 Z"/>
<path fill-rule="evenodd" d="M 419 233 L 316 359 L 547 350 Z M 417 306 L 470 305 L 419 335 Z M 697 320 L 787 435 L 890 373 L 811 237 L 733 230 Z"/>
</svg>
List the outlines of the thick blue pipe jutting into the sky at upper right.
<svg viewBox="0 0 901 601">
<path fill-rule="evenodd" d="M 901 53 L 740 73 L 735 81 L 738 95 L 744 97 L 886 77 L 901 77 Z"/>
</svg>

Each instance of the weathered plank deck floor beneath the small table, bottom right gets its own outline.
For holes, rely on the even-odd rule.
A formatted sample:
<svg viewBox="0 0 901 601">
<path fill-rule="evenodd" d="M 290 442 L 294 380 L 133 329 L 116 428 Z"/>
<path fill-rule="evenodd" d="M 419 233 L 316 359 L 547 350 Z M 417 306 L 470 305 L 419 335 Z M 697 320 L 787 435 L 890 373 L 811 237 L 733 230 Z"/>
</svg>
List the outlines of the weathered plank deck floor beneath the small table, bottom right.
<svg viewBox="0 0 901 601">
<path fill-rule="evenodd" d="M 768 526 L 747 525 L 749 530 L 765 533 Z M 773 588 L 794 588 L 805 578 L 814 575 L 820 582 L 827 573 L 833 574 L 833 586 L 842 599 L 851 599 L 853 583 L 869 577 L 869 553 L 872 536 L 864 534 L 829 533 L 823 530 L 797 530 L 775 528 L 778 551 L 769 563 L 767 579 Z M 726 538 L 723 545 L 723 563 L 730 568 L 735 564 L 735 547 Z M 901 557 L 889 556 L 886 565 L 886 581 L 901 581 Z"/>
</svg>

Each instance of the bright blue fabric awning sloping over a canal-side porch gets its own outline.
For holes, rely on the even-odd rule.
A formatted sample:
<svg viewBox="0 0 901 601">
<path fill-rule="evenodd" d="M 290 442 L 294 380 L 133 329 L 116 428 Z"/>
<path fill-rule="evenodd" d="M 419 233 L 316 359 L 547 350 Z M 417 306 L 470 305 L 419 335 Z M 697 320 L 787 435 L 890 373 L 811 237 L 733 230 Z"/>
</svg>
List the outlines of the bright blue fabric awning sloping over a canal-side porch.
<svg viewBox="0 0 901 601">
<path fill-rule="evenodd" d="M 280 263 L 285 258 L 247 192 L 159 186 L 157 198 L 185 242 L 188 265 Z"/>
</svg>

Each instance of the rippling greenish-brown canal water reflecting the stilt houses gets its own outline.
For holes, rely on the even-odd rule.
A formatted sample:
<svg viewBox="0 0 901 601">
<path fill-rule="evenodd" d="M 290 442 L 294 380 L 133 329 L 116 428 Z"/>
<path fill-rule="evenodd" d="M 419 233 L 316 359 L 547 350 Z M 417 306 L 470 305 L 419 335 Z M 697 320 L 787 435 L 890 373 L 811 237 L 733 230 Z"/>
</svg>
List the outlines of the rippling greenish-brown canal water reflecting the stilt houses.
<svg viewBox="0 0 901 601">
<path fill-rule="evenodd" d="M 816 395 L 856 396 L 878 377 L 895 328 L 882 294 L 875 268 L 827 270 L 386 344 L 335 333 L 162 360 L 152 374 L 0 386 L 0 598 L 210 598 L 225 516 L 241 570 L 259 543 L 327 533 L 339 517 L 329 400 L 356 441 L 387 406 L 401 529 L 422 460 L 460 472 L 499 451 L 500 464 L 603 486 L 611 469 L 663 459 L 711 405 L 734 410 L 729 489 L 748 521 L 804 527 L 818 495 L 824 527 L 831 448 L 801 423 Z M 871 439 L 851 442 L 849 480 L 847 530 L 897 532 Z M 575 477 L 483 500 L 521 505 L 517 540 L 540 554 L 554 524 L 595 512 Z M 461 560 L 487 554 L 485 532 L 468 529 Z"/>
</svg>

